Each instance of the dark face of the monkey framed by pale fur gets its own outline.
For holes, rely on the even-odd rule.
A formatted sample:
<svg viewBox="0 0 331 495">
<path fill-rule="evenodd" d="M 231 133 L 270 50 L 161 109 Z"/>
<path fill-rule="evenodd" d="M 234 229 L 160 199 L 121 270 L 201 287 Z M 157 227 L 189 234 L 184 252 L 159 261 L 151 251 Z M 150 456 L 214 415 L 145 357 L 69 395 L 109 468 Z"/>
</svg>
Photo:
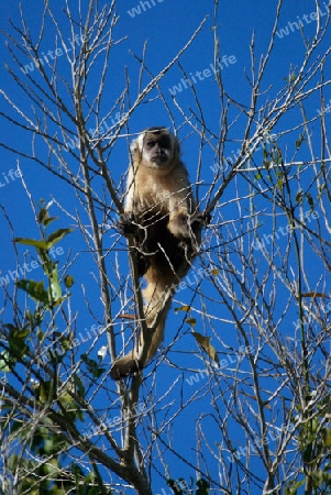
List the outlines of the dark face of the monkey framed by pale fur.
<svg viewBox="0 0 331 495">
<path fill-rule="evenodd" d="M 164 167 L 174 157 L 174 144 L 170 134 L 146 134 L 143 142 L 143 160 L 146 163 Z"/>
</svg>

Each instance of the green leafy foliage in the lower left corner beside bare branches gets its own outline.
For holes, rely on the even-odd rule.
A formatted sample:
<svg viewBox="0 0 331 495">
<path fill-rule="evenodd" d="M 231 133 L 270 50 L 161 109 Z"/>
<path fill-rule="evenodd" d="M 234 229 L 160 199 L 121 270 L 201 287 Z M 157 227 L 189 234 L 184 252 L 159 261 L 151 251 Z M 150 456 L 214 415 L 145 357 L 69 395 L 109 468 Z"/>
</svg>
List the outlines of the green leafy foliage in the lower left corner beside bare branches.
<svg viewBox="0 0 331 495">
<path fill-rule="evenodd" d="M 63 306 L 70 294 L 62 288 L 58 263 L 52 260 L 49 250 L 73 229 L 58 229 L 48 234 L 47 228 L 55 218 L 51 218 L 44 208 L 41 209 L 38 219 L 42 240 L 18 238 L 15 242 L 35 249 L 44 279 L 16 282 L 16 287 L 27 294 L 35 308 L 33 311 L 25 311 L 20 324 L 3 324 L 5 342 L 1 342 L 4 349 L 1 351 L 0 370 L 21 381 L 19 369 L 22 370 L 23 366 L 31 377 L 30 383 L 26 383 L 29 398 L 25 399 L 25 405 L 30 407 L 34 404 L 40 420 L 35 425 L 31 422 L 27 409 L 26 414 L 12 416 L 13 398 L 10 395 L 2 397 L 4 407 L 1 425 L 4 433 L 8 433 L 8 438 L 16 438 L 22 446 L 29 444 L 24 455 L 12 453 L 9 457 L 8 469 L 18 473 L 21 479 L 18 484 L 19 493 L 65 495 L 75 491 L 79 495 L 111 495 L 112 492 L 103 486 L 97 468 L 86 474 L 76 463 L 71 462 L 66 468 L 64 464 L 65 452 L 70 444 L 58 431 L 54 418 L 71 424 L 71 428 L 78 421 L 84 421 L 85 415 L 77 399 L 84 398 L 85 387 L 78 373 L 70 376 L 67 386 L 59 386 L 57 369 L 65 354 L 70 351 L 73 339 L 57 331 L 56 319 L 58 311 L 65 310 Z M 66 275 L 64 284 L 65 289 L 70 288 L 74 278 Z M 60 348 L 64 352 L 53 353 L 48 358 L 44 349 L 48 339 L 46 336 L 51 336 L 53 350 Z M 37 349 L 37 354 L 47 356 L 46 363 L 34 355 L 33 349 Z M 98 363 L 86 355 L 81 359 L 87 364 L 88 374 L 101 376 L 104 370 Z M 31 360 L 34 360 L 35 365 L 30 365 Z"/>
</svg>

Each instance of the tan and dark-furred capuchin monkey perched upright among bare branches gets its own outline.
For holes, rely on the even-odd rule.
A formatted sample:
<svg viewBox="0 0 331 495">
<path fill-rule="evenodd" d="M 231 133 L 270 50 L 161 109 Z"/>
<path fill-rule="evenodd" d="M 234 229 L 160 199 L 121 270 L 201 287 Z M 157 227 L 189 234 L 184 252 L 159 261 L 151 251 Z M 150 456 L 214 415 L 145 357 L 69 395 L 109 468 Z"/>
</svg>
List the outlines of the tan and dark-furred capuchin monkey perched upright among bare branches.
<svg viewBox="0 0 331 495">
<path fill-rule="evenodd" d="M 199 250 L 203 222 L 179 157 L 178 140 L 168 129 L 146 129 L 130 150 L 125 219 L 118 226 L 121 233 L 134 237 L 139 274 L 146 280 L 144 314 L 152 337 L 145 343 L 141 332 L 135 348 L 114 362 L 110 372 L 114 380 L 142 370 L 156 353 L 170 296 Z"/>
</svg>

